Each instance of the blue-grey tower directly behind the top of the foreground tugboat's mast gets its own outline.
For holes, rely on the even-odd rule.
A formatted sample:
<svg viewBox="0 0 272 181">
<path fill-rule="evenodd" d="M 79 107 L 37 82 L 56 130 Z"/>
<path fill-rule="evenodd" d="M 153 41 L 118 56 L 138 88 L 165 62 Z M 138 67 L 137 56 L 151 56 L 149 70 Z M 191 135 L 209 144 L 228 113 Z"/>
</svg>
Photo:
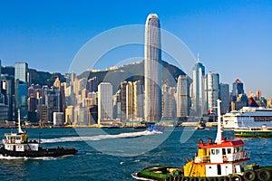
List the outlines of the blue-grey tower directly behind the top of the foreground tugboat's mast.
<svg viewBox="0 0 272 181">
<path fill-rule="evenodd" d="M 228 83 L 220 83 L 220 100 L 221 100 L 221 114 L 229 111 L 229 86 Z"/>
</svg>

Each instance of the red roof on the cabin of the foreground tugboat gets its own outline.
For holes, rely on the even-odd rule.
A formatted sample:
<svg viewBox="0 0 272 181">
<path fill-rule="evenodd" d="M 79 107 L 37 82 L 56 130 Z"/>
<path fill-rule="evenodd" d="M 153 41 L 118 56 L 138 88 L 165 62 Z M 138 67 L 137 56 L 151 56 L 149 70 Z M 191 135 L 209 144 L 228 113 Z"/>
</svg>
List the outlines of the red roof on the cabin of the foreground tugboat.
<svg viewBox="0 0 272 181">
<path fill-rule="evenodd" d="M 239 147 L 246 145 L 241 139 L 237 140 L 227 140 L 227 138 L 222 138 L 220 144 L 217 143 L 199 143 L 199 148 L 229 148 L 229 147 Z"/>
</svg>

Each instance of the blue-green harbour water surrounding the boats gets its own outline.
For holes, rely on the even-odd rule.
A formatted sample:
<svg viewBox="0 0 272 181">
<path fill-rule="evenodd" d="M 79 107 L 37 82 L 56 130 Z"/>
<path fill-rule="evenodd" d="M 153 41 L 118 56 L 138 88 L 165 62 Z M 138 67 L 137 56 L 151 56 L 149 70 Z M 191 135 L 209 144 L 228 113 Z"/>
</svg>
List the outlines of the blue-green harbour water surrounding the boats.
<svg viewBox="0 0 272 181">
<path fill-rule="evenodd" d="M 72 157 L 0 159 L 2 180 L 134 180 L 131 173 L 153 165 L 182 167 L 197 151 L 199 138 L 215 138 L 216 128 L 166 128 L 161 134 L 139 129 L 26 129 L 43 147 L 74 147 Z M 0 129 L 4 138 L 10 129 Z M 16 130 L 14 130 L 16 131 Z M 102 134 L 103 132 L 103 134 Z M 233 138 L 233 131 L 224 135 Z M 181 136 L 187 137 L 184 143 Z M 184 139 L 182 139 L 184 140 Z M 272 165 L 271 138 L 243 138 L 251 151 L 248 163 Z"/>
</svg>

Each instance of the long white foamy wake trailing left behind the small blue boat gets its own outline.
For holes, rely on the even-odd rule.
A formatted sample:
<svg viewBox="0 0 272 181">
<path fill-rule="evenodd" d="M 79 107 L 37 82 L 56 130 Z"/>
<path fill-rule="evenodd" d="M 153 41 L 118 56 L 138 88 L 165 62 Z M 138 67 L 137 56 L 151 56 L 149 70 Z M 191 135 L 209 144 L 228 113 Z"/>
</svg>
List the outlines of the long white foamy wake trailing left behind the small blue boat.
<svg viewBox="0 0 272 181">
<path fill-rule="evenodd" d="M 102 139 L 110 138 L 137 138 L 142 136 L 149 136 L 155 134 L 161 134 L 160 131 L 140 131 L 131 133 L 120 133 L 117 135 L 96 135 L 91 137 L 63 137 L 63 138 L 48 138 L 42 139 L 42 143 L 57 143 L 57 142 L 76 142 L 76 141 L 99 141 Z"/>
</svg>

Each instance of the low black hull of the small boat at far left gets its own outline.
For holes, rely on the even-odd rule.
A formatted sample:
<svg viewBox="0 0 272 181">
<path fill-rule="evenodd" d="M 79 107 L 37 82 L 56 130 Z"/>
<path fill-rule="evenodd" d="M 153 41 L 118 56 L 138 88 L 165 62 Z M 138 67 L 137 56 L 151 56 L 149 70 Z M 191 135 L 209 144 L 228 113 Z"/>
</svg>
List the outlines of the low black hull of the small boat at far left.
<svg viewBox="0 0 272 181">
<path fill-rule="evenodd" d="M 11 151 L 0 148 L 0 155 L 3 157 L 62 157 L 76 153 L 75 148 L 39 148 L 38 151 Z"/>
</svg>

